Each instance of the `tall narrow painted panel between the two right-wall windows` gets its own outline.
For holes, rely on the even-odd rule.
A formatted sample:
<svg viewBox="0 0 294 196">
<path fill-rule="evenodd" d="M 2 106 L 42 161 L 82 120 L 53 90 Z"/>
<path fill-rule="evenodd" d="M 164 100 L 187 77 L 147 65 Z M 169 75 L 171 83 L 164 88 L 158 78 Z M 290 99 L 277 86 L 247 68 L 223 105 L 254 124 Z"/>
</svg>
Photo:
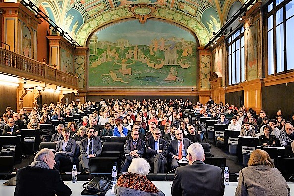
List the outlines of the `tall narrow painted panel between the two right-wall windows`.
<svg viewBox="0 0 294 196">
<path fill-rule="evenodd" d="M 247 33 L 247 70 L 248 80 L 257 78 L 257 31 L 254 25 L 250 26 Z"/>
</svg>

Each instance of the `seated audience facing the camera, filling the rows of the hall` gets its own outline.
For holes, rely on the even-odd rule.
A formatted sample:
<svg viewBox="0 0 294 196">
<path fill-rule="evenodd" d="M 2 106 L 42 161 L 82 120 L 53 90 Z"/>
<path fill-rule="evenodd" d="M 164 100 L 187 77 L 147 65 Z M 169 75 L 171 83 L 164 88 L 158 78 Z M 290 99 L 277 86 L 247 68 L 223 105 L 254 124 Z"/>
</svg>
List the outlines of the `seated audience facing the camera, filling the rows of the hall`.
<svg viewBox="0 0 294 196">
<path fill-rule="evenodd" d="M 241 136 L 258 136 L 260 145 L 291 145 L 294 141 L 293 123 L 285 121 L 281 111 L 269 119 L 265 111 L 259 115 L 245 106 L 236 108 L 228 103 L 216 104 L 209 101 L 193 105 L 189 100 L 108 100 L 101 99 L 99 104 L 88 101 L 86 104 L 51 103 L 42 108 L 36 106 L 30 114 L 25 109 L 14 113 L 7 107 L 0 118 L 1 135 L 20 135 L 21 129 L 38 129 L 40 124 L 52 120 L 62 120 L 85 111 L 79 123 L 69 122 L 57 126 L 57 133 L 51 142 L 56 144 L 55 168 L 72 165 L 77 160 L 82 171 L 89 173 L 89 158 L 102 153 L 103 137 L 126 137 L 121 172 L 127 172 L 133 158 L 146 158 L 154 173 L 166 173 L 178 167 L 178 161 L 187 156 L 192 143 L 201 143 L 205 127 L 191 118 L 183 119 L 183 108 L 192 110 L 197 117 L 216 120 L 217 124 L 229 124 L 228 128 L 240 130 Z M 217 140 L 222 141 L 223 138 Z"/>
</svg>

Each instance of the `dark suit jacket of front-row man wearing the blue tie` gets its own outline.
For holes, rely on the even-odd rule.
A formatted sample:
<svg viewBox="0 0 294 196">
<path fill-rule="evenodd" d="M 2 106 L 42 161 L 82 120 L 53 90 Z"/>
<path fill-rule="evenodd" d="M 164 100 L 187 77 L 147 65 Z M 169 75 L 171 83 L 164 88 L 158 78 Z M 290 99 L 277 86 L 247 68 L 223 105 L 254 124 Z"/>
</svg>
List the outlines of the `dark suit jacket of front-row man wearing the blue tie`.
<svg viewBox="0 0 294 196">
<path fill-rule="evenodd" d="M 149 149 L 150 147 L 151 149 Z M 167 157 L 167 142 L 162 138 L 159 139 L 159 150 L 162 150 L 161 154 Z M 154 137 L 148 138 L 146 142 L 146 153 L 147 159 L 157 155 L 157 150 L 155 150 L 155 139 Z"/>
</svg>

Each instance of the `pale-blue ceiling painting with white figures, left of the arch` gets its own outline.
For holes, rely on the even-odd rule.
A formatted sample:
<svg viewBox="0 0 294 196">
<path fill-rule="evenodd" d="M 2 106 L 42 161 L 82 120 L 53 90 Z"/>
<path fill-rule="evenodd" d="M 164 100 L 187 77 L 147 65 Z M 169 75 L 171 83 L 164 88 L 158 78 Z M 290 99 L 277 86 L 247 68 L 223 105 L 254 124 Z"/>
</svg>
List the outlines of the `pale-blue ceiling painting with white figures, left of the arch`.
<svg viewBox="0 0 294 196">
<path fill-rule="evenodd" d="M 81 27 L 81 25 L 84 23 L 83 16 L 81 15 L 81 12 L 78 10 L 71 8 L 67 13 L 65 20 L 63 22 L 62 29 L 69 33 L 69 35 L 73 38 L 75 37 L 78 29 Z"/>
</svg>

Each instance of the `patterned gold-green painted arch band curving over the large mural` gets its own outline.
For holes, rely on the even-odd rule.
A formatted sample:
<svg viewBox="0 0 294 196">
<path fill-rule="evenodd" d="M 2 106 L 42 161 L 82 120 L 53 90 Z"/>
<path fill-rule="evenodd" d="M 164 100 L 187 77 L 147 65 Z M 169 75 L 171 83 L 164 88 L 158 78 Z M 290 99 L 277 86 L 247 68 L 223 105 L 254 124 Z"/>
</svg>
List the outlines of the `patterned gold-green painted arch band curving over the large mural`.
<svg viewBox="0 0 294 196">
<path fill-rule="evenodd" d="M 198 37 L 200 46 L 204 46 L 210 39 L 207 29 L 198 20 L 181 14 L 177 11 L 164 7 L 158 7 L 157 11 L 152 15 L 152 17 L 171 20 L 190 29 Z M 86 46 L 87 39 L 92 34 L 92 32 L 108 23 L 126 18 L 133 18 L 133 14 L 128 10 L 127 6 L 104 12 L 103 14 L 98 15 L 97 17 L 92 18 L 84 23 L 84 25 L 77 32 L 75 40 L 81 46 Z"/>
</svg>

